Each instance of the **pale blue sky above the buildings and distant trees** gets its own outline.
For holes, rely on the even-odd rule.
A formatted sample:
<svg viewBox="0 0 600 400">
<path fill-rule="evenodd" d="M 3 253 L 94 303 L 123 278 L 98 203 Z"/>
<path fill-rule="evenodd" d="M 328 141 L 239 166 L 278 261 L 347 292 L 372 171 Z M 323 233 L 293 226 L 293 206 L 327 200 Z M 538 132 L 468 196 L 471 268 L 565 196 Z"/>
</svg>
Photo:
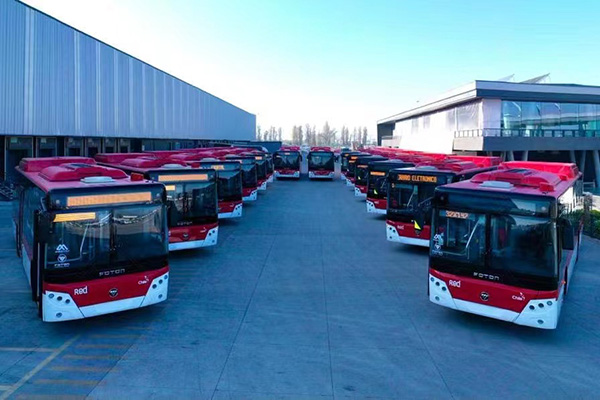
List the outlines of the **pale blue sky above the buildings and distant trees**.
<svg viewBox="0 0 600 400">
<path fill-rule="evenodd" d="M 367 126 L 474 79 L 600 85 L 599 1 L 26 0 L 257 114 Z"/>
</svg>

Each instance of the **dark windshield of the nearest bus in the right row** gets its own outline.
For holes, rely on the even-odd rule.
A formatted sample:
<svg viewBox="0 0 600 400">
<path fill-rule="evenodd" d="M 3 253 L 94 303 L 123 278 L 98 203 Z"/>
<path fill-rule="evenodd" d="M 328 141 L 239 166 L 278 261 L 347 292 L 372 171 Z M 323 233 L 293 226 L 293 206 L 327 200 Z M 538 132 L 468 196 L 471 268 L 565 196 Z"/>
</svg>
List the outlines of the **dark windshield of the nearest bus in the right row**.
<svg viewBox="0 0 600 400">
<path fill-rule="evenodd" d="M 549 218 L 437 210 L 431 265 L 536 290 L 553 290 L 557 276 L 556 224 Z"/>
</svg>

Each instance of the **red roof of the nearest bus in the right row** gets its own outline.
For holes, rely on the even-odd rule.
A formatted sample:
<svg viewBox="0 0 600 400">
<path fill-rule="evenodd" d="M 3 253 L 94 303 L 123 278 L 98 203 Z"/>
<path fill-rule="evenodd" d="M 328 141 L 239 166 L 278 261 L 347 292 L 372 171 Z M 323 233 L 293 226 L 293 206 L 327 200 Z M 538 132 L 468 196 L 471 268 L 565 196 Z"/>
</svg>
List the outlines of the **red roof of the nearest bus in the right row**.
<svg viewBox="0 0 600 400">
<path fill-rule="evenodd" d="M 471 189 L 526 195 L 559 197 L 581 172 L 572 163 L 509 161 L 497 170 L 475 175 L 470 180 L 446 185 L 446 189 Z"/>
</svg>

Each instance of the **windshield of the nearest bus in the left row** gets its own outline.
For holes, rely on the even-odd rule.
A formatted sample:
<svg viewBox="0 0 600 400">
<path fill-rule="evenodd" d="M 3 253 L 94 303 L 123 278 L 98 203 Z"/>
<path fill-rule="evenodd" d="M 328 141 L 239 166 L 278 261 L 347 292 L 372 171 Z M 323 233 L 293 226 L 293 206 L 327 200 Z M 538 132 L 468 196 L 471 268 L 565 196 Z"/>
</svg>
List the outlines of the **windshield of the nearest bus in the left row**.
<svg viewBox="0 0 600 400">
<path fill-rule="evenodd" d="M 57 214 L 54 221 L 45 243 L 49 281 L 59 271 L 83 270 L 91 279 L 102 270 L 143 271 L 166 260 L 162 205 Z"/>
</svg>

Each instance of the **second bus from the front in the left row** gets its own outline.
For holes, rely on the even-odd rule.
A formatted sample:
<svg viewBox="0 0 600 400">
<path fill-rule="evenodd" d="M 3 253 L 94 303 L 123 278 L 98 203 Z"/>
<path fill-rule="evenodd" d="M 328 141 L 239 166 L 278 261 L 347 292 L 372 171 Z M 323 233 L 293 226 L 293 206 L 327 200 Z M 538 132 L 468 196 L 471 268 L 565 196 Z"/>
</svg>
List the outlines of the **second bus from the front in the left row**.
<svg viewBox="0 0 600 400">
<path fill-rule="evenodd" d="M 96 154 L 96 161 L 128 174 L 160 182 L 167 190 L 169 250 L 215 246 L 219 237 L 217 177 L 212 169 L 193 169 L 183 162 L 151 155 L 127 158 Z"/>
</svg>

